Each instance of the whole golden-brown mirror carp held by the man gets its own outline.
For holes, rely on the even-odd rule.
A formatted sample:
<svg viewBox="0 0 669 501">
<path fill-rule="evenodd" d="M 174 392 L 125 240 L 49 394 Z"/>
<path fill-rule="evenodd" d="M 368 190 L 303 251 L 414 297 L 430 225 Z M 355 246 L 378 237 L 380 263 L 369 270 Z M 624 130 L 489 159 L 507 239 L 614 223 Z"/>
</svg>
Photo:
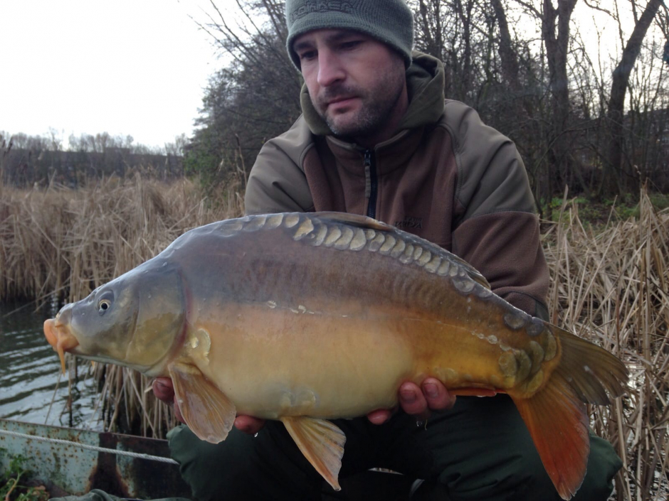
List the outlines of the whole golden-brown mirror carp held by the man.
<svg viewBox="0 0 669 501">
<path fill-rule="evenodd" d="M 402 382 L 505 392 L 559 495 L 581 485 L 586 402 L 623 392 L 623 363 L 490 291 L 462 259 L 367 217 L 242 217 L 199 227 L 88 298 L 44 333 L 63 360 L 172 377 L 202 440 L 236 414 L 278 419 L 336 489 L 345 437 L 327 419 L 396 405 Z M 64 365 L 63 365 L 64 367 Z"/>
</svg>

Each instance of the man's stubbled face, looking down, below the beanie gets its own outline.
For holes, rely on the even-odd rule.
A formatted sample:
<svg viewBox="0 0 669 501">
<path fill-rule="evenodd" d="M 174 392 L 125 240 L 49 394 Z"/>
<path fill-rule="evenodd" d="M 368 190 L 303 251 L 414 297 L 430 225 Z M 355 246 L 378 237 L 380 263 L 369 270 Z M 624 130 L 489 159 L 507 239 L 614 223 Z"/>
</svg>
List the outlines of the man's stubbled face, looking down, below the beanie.
<svg viewBox="0 0 669 501">
<path fill-rule="evenodd" d="M 327 29 L 296 38 L 293 49 L 316 111 L 337 136 L 375 136 L 400 118 L 394 114 L 406 89 L 404 60 L 384 43 Z"/>
</svg>

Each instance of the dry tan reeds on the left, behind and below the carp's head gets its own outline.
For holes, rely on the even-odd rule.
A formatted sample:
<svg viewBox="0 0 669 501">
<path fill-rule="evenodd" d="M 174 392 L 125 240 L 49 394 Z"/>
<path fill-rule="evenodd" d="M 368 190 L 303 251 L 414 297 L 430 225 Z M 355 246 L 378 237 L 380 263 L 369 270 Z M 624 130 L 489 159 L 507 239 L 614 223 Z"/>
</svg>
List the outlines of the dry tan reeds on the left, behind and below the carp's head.
<svg viewBox="0 0 669 501">
<path fill-rule="evenodd" d="M 78 301 L 95 287 L 154 257 L 191 228 L 243 212 L 232 185 L 216 200 L 191 181 L 134 176 L 72 190 L 0 185 L 0 301 Z M 68 355 L 69 386 L 78 377 Z M 115 365 L 90 364 L 105 429 L 163 437 L 175 424 L 169 406 L 145 391 L 151 382 Z"/>
</svg>

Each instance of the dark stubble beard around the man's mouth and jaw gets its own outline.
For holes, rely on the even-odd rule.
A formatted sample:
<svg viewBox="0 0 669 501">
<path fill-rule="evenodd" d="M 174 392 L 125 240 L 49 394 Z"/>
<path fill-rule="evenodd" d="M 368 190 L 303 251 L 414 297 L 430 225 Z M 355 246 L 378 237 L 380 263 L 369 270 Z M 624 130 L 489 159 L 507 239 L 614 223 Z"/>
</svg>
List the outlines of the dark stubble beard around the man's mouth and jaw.
<svg viewBox="0 0 669 501">
<path fill-rule="evenodd" d="M 377 85 L 369 90 L 360 90 L 352 87 L 330 87 L 323 100 L 327 102 L 330 96 L 355 95 L 362 100 L 362 107 L 347 120 L 346 124 L 337 125 L 334 117 L 327 112 L 325 105 L 314 103 L 314 107 L 332 134 L 341 137 L 374 136 L 388 122 L 404 90 L 404 73 L 389 72 L 377 80 Z M 324 110 L 325 109 L 325 110 Z"/>
</svg>

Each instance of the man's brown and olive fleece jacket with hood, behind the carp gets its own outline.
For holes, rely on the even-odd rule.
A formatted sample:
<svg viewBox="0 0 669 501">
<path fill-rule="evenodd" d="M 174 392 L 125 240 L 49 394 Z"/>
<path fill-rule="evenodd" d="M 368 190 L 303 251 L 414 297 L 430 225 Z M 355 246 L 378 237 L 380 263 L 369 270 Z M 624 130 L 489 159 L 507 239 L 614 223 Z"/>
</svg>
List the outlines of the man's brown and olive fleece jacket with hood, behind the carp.
<svg viewBox="0 0 669 501">
<path fill-rule="evenodd" d="M 548 269 L 515 145 L 472 108 L 444 101 L 435 58 L 414 53 L 407 83 L 399 133 L 369 151 L 334 137 L 302 89 L 302 117 L 258 154 L 246 212 L 371 215 L 458 254 L 495 293 L 546 318 Z"/>
</svg>

